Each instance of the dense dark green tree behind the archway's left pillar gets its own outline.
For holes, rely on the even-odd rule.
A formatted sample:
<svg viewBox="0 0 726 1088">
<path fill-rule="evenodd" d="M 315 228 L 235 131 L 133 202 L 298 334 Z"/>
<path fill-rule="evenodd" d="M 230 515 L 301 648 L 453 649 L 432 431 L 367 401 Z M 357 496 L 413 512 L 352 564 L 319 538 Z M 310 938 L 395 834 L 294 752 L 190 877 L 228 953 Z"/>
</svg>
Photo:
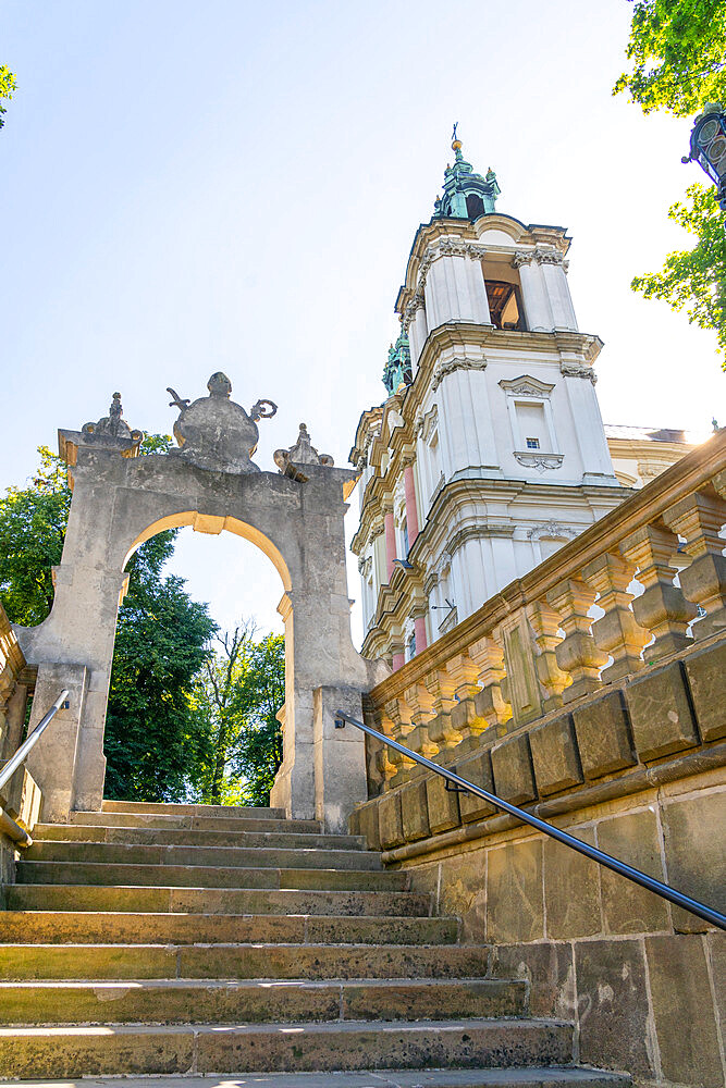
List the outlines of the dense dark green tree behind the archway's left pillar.
<svg viewBox="0 0 726 1088">
<path fill-rule="evenodd" d="M 147 435 L 141 454 L 171 440 Z M 0 498 L 0 597 L 13 622 L 41 622 L 53 601 L 51 567 L 61 561 L 71 506 L 65 466 L 46 446 L 24 489 Z M 207 733 L 194 713 L 193 679 L 216 625 L 183 580 L 162 576 L 176 530 L 143 544 L 127 565 L 130 589 L 119 611 L 106 731 L 107 795 L 183 799 L 204 769 Z"/>
</svg>

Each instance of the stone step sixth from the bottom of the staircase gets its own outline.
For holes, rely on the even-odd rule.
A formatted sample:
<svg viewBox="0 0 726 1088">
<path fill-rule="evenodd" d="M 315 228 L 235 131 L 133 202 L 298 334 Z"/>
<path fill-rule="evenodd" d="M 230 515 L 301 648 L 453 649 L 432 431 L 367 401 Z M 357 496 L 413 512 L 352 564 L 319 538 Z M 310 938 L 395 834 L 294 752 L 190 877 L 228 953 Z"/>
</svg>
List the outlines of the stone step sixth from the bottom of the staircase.
<svg viewBox="0 0 726 1088">
<path fill-rule="evenodd" d="M 28 863 L 29 864 L 29 863 Z M 275 891 L 253 888 L 104 888 L 8 885 L 9 911 L 134 911 L 172 914 L 428 916 L 431 895 L 410 891 Z"/>
</svg>

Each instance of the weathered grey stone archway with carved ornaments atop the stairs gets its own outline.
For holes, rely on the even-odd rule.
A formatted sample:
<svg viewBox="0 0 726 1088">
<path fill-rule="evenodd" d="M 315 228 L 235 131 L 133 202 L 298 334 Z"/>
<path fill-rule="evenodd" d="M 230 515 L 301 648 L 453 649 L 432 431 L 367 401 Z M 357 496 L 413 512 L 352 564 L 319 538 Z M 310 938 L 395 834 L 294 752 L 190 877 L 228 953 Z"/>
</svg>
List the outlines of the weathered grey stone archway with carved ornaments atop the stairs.
<svg viewBox="0 0 726 1088">
<path fill-rule="evenodd" d="M 280 471 L 260 471 L 251 455 L 257 420 L 268 415 L 260 406 L 269 401 L 248 415 L 230 400 L 225 375 L 212 375 L 208 388 L 192 405 L 173 394 L 181 445 L 172 455 L 138 457 L 140 433 L 121 419 L 115 399 L 99 423 L 59 432 L 73 500 L 56 598 L 41 625 L 17 633 L 26 659 L 38 665 L 32 727 L 61 688 L 71 697 L 28 770 L 44 791 L 44 818 L 100 808 L 125 564 L 162 529 L 226 530 L 260 547 L 284 588 L 283 764 L 272 803 L 342 830 L 366 798 L 365 745 L 357 730 L 335 730 L 334 712 L 342 706 L 359 716 L 361 693 L 380 678 L 380 666 L 360 657 L 350 639 L 343 516 L 355 473 L 319 456 L 304 428 L 291 449 L 275 454 Z"/>
</svg>

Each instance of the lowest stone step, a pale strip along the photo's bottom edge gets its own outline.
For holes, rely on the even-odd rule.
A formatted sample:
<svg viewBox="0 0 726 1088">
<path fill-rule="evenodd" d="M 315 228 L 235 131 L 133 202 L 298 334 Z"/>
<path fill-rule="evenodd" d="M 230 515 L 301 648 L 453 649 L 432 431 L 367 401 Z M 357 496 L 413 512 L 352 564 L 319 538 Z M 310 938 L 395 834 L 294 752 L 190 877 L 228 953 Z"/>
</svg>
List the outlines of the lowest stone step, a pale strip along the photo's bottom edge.
<svg viewBox="0 0 726 1088">
<path fill-rule="evenodd" d="M 237 1073 L 232 1086 L 244 1085 L 249 1074 Z M 519 1070 L 371 1070 L 369 1073 L 255 1073 L 255 1088 L 625 1088 L 630 1077 L 580 1066 Z M 27 1088 L 45 1088 L 37 1081 L 13 1080 Z M 50 1081 L 58 1088 L 89 1088 L 88 1079 Z M 96 1088 L 231 1088 L 227 1076 L 103 1077 Z"/>
</svg>

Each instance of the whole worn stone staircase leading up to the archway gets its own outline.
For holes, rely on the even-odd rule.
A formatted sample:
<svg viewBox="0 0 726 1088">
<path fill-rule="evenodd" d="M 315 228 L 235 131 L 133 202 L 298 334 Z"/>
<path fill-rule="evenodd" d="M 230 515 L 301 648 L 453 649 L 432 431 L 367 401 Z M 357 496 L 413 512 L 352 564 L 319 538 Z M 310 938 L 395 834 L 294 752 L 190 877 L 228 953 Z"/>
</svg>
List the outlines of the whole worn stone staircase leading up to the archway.
<svg viewBox="0 0 726 1088">
<path fill-rule="evenodd" d="M 571 1025 L 528 1016 L 361 838 L 283 817 L 104 802 L 37 826 L 0 911 L 0 1077 L 629 1084 L 578 1067 Z"/>
</svg>

